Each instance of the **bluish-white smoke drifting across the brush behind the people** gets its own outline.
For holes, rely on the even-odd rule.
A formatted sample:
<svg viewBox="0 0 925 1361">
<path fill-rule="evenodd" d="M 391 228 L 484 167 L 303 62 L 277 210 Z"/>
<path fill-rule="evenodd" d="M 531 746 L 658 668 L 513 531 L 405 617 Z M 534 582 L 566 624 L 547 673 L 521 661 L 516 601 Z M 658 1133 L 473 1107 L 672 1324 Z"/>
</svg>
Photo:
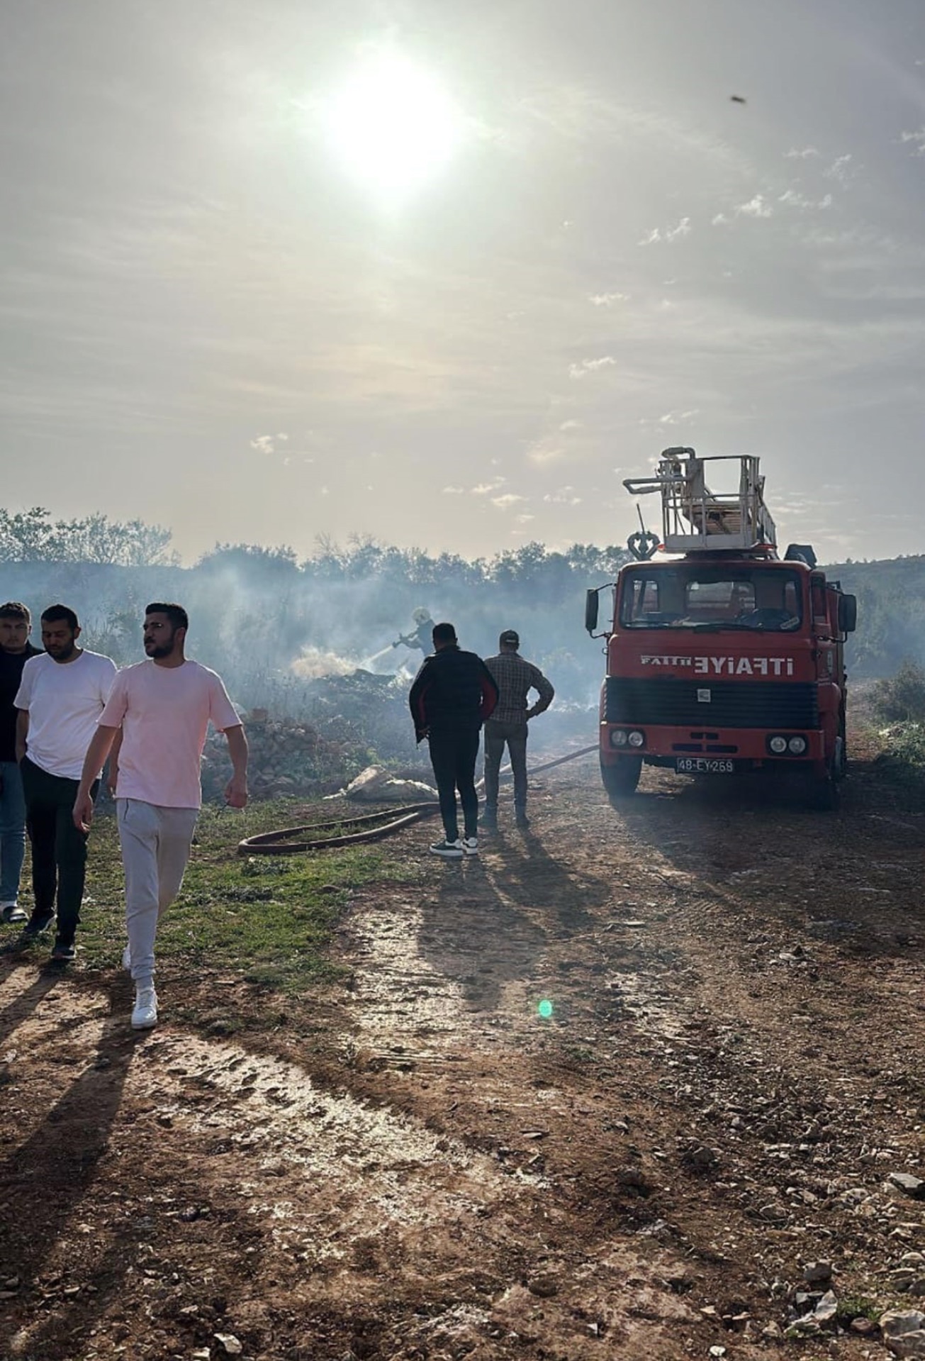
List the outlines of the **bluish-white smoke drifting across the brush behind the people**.
<svg viewBox="0 0 925 1361">
<path fill-rule="evenodd" d="M 41 611 L 57 600 L 69 604 L 83 625 L 82 642 L 118 666 L 144 657 L 146 604 L 178 600 L 190 617 L 188 656 L 216 670 L 242 710 L 316 721 L 322 678 L 339 678 L 340 689 L 325 691 L 329 721 L 348 723 L 362 698 L 363 735 L 375 747 L 381 700 L 389 709 L 389 746 L 400 754 L 397 732 L 407 723 L 412 757 L 414 732 L 401 705 L 422 652 L 399 640 L 416 629 L 415 608 L 454 623 L 461 646 L 482 656 L 498 651 L 503 629 L 518 630 L 522 655 L 556 689 L 552 709 L 535 725 L 539 739 L 562 723 L 579 724 L 597 702 L 604 659 L 601 644 L 584 630 L 584 595 L 612 581 L 620 558 L 616 548 L 575 546 L 559 554 L 526 544 L 467 562 L 360 542 L 348 550 L 328 546 L 299 566 L 282 551 L 233 547 L 195 568 L 5 563 L 4 593 L 33 610 L 33 641 Z M 358 674 L 369 683 L 348 686 Z M 381 689 L 373 680 L 390 683 Z"/>
</svg>

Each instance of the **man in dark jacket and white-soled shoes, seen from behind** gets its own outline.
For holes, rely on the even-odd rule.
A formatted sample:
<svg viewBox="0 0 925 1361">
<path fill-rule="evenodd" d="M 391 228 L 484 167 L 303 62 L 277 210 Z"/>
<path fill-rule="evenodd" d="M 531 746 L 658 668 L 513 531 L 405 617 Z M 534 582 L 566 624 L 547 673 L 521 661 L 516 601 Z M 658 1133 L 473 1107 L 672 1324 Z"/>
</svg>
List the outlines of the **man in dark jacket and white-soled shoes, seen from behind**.
<svg viewBox="0 0 925 1361">
<path fill-rule="evenodd" d="M 462 652 L 452 623 L 435 623 L 434 652 L 424 657 L 414 679 L 408 704 L 418 742 L 430 742 L 430 761 L 437 780 L 445 840 L 430 848 L 434 855 L 461 860 L 477 855 L 479 798 L 475 762 L 479 731 L 498 704 L 498 686 L 482 657 Z M 462 804 L 462 829 L 456 814 L 456 791 Z"/>
</svg>

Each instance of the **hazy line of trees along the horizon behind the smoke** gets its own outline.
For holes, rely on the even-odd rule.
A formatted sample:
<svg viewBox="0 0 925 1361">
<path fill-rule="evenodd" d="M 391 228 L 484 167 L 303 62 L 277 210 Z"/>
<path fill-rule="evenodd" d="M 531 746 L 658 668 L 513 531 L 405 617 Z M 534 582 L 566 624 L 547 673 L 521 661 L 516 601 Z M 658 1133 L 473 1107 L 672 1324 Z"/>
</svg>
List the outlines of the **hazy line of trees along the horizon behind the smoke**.
<svg viewBox="0 0 925 1361">
<path fill-rule="evenodd" d="M 56 595 L 82 602 L 94 637 L 113 656 L 135 645 L 143 597 L 166 591 L 195 610 L 201 602 L 218 611 L 220 622 L 205 629 L 200 622 L 216 664 L 243 627 L 265 667 L 283 670 L 309 645 L 362 660 L 407 632 L 411 610 L 426 606 L 468 627 L 476 651 L 494 645 L 498 627 L 520 627 L 531 651 L 575 682 L 575 698 L 600 675 L 597 649 L 589 651 L 581 627 L 584 591 L 612 581 L 627 558 L 616 544 L 550 550 L 533 542 L 468 559 L 352 535 L 346 544 L 321 536 L 303 559 L 286 546 L 216 543 L 192 568 L 181 568 L 162 525 L 102 513 L 56 520 L 41 506 L 0 508 L 1 593 L 16 595 L 14 585 L 27 573 L 20 588 L 23 596 L 33 592 L 27 603 L 49 603 Z M 58 576 L 60 568 L 71 570 Z M 854 676 L 888 676 L 906 659 L 925 660 L 925 557 L 849 561 L 826 570 L 858 597 L 858 630 L 847 645 Z"/>
</svg>

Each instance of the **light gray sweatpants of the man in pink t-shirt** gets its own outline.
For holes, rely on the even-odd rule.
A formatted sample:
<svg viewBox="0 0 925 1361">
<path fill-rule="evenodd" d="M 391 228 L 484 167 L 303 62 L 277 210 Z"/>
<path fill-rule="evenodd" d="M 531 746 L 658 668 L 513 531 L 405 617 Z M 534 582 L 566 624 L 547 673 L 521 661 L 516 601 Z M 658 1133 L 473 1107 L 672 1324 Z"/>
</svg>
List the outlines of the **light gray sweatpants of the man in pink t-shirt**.
<svg viewBox="0 0 925 1361">
<path fill-rule="evenodd" d="M 117 799 L 118 840 L 125 867 L 125 924 L 132 979 L 154 979 L 158 920 L 180 893 L 199 808 L 163 808 L 141 799 Z"/>
</svg>

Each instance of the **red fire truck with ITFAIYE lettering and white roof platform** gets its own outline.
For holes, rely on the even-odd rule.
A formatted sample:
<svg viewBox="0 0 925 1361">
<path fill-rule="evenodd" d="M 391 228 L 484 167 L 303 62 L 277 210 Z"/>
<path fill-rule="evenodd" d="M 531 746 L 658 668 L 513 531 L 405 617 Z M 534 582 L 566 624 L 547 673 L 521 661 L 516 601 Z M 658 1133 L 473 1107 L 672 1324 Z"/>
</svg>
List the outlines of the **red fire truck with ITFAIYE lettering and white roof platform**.
<svg viewBox="0 0 925 1361">
<path fill-rule="evenodd" d="M 652 476 L 623 485 L 658 495 L 662 523 L 654 535 L 641 514 L 635 561 L 586 597 L 585 627 L 607 640 L 600 768 L 611 802 L 652 765 L 724 778 L 788 772 L 811 806 L 837 807 L 854 596 L 826 580 L 808 544 L 778 557 L 752 455 L 665 449 Z"/>
</svg>

